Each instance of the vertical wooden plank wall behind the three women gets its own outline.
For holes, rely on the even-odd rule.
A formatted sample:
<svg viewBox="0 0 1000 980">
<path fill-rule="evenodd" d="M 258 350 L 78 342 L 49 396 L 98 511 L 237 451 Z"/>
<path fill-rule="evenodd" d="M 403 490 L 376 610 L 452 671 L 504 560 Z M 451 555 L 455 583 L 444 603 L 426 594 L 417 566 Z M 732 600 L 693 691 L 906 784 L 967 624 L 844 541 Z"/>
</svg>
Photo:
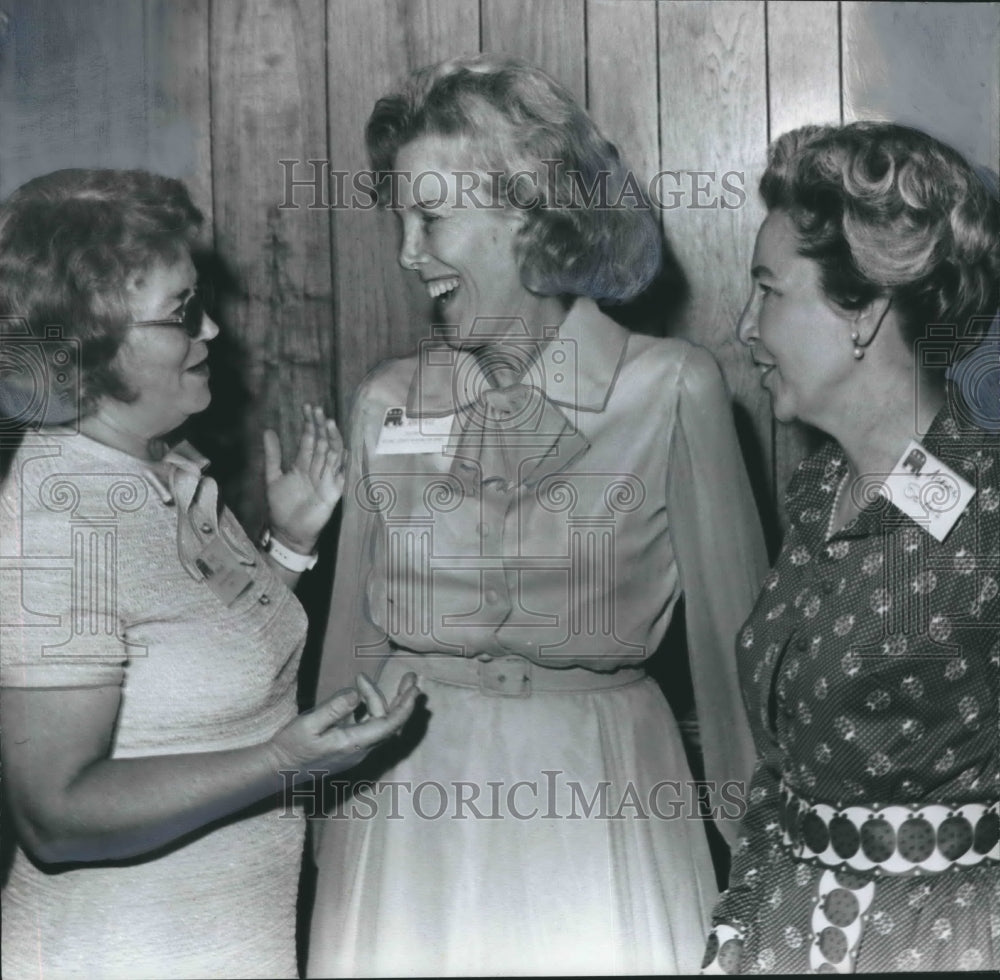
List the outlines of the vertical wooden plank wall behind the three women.
<svg viewBox="0 0 1000 980">
<path fill-rule="evenodd" d="M 1000 38 L 996 3 L 0 6 L 7 13 L 6 28 L 0 17 L 0 192 L 59 166 L 146 166 L 186 179 L 205 211 L 213 252 L 206 264 L 221 287 L 224 334 L 215 345 L 215 402 L 196 430 L 223 463 L 228 495 L 249 525 L 261 514 L 261 429 L 274 425 L 290 443 L 305 399 L 343 421 L 365 373 L 425 335 L 426 303 L 396 265 L 390 215 L 310 208 L 308 187 L 294 190 L 301 207 L 280 206 L 281 160 L 301 161 L 297 179 L 310 175 L 309 160 L 352 173 L 367 166 L 365 119 L 410 69 L 478 50 L 526 58 L 588 105 L 637 174 L 678 172 L 659 189 L 679 202 L 661 213 L 686 288 L 678 302 L 667 297 L 662 309 L 647 308 L 652 322 L 644 328 L 704 344 L 722 364 L 772 544 L 777 489 L 809 438 L 772 422 L 734 334 L 762 217 L 756 182 L 768 140 L 804 122 L 865 114 L 909 109 L 909 121 L 920 122 L 919 99 L 900 110 L 898 98 L 893 107 L 873 96 L 879 86 L 912 92 L 906 66 L 916 63 L 926 66 L 931 87 L 939 75 L 951 79 L 941 84 L 969 103 L 967 128 L 978 142 L 960 148 L 995 166 L 1000 140 L 1000 80 L 990 75 Z M 742 196 L 723 192 L 725 174 Z"/>
</svg>

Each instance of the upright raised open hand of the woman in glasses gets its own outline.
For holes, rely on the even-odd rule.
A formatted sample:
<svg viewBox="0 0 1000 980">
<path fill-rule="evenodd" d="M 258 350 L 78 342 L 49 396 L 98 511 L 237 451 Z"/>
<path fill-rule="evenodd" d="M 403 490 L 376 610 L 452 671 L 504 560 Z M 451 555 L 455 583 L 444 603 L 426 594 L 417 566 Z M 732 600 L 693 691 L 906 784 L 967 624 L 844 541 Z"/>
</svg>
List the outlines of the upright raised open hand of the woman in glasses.
<svg viewBox="0 0 1000 980">
<path fill-rule="evenodd" d="M 271 532 L 289 548 L 308 554 L 344 491 L 344 440 L 323 409 L 302 406 L 302 436 L 295 461 L 281 468 L 281 442 L 264 432 L 264 472 Z"/>
</svg>

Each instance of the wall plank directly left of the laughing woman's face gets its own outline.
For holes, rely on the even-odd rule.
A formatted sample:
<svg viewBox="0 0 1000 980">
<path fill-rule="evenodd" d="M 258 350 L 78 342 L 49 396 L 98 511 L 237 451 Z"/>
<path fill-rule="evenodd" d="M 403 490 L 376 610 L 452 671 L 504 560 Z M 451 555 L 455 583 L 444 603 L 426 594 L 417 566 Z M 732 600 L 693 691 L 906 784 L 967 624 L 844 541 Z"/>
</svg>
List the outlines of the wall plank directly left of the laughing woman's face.
<svg viewBox="0 0 1000 980">
<path fill-rule="evenodd" d="M 365 122 L 376 99 L 414 68 L 479 47 L 477 0 L 335 0 L 328 7 L 330 161 L 356 174 L 369 166 Z M 334 210 L 337 402 L 346 406 L 380 360 L 413 350 L 427 332 L 429 307 L 396 264 L 393 215 Z"/>
</svg>

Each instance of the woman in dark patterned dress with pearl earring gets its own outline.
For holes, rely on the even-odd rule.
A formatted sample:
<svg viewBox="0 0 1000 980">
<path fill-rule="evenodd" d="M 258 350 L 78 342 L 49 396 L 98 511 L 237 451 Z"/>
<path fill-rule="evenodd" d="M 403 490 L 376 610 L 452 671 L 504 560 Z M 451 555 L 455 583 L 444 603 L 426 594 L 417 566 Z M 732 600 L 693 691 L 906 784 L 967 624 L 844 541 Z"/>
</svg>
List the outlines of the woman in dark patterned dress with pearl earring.
<svg viewBox="0 0 1000 980">
<path fill-rule="evenodd" d="M 887 123 L 781 137 L 760 187 L 740 339 L 831 439 L 739 634 L 758 764 L 705 971 L 996 969 L 1000 444 L 945 368 L 998 369 L 997 202 Z"/>
</svg>

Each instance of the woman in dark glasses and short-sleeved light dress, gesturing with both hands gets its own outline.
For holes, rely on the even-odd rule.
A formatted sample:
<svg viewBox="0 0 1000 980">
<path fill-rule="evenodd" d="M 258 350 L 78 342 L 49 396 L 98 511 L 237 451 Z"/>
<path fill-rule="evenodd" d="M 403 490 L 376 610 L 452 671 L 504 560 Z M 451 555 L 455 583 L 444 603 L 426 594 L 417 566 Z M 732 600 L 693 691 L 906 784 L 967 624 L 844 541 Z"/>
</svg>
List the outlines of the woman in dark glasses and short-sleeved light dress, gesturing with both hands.
<svg viewBox="0 0 1000 980">
<path fill-rule="evenodd" d="M 295 976 L 303 824 L 278 794 L 359 761 L 416 696 L 359 678 L 297 715 L 290 589 L 342 487 L 322 410 L 288 471 L 265 435 L 261 550 L 169 445 L 211 399 L 200 222 L 138 171 L 60 171 L 0 208 L 0 315 L 32 335 L 5 338 L 0 378 L 27 429 L 0 494 L 4 976 Z"/>
</svg>

